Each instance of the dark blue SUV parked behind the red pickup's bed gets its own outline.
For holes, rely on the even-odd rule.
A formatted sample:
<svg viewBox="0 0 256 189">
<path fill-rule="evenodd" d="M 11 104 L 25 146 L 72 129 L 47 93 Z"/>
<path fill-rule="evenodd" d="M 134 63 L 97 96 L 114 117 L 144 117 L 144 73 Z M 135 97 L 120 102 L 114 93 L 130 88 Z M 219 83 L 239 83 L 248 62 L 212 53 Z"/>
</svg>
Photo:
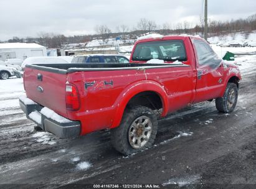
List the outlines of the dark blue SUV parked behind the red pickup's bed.
<svg viewBox="0 0 256 189">
<path fill-rule="evenodd" d="M 78 55 L 72 63 L 129 63 L 129 59 L 122 55 Z"/>
</svg>

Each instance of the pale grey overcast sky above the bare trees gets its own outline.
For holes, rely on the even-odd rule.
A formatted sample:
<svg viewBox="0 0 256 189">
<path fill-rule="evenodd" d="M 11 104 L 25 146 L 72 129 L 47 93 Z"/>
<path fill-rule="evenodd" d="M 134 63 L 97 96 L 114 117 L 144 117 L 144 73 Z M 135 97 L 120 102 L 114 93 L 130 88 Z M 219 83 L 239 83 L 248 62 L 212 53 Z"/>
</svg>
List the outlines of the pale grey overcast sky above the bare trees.
<svg viewBox="0 0 256 189">
<path fill-rule="evenodd" d="M 230 20 L 256 13 L 255 0 L 209 0 L 209 18 Z M 93 34 L 95 25 L 136 27 L 141 18 L 156 24 L 199 22 L 202 0 L 1 0 L 0 40 L 37 37 L 40 32 Z"/>
</svg>

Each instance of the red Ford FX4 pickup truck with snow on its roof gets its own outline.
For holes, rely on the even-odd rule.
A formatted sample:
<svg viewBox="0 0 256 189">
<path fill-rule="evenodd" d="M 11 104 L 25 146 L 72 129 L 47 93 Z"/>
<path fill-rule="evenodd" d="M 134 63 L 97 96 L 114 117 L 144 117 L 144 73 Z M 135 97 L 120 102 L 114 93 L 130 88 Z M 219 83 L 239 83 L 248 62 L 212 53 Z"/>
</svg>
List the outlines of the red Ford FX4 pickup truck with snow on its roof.
<svg viewBox="0 0 256 189">
<path fill-rule="evenodd" d="M 59 137 L 111 129 L 115 149 L 132 154 L 153 144 L 157 113 L 211 99 L 233 111 L 240 80 L 200 37 L 165 36 L 138 40 L 130 63 L 27 65 L 20 106 Z"/>
</svg>

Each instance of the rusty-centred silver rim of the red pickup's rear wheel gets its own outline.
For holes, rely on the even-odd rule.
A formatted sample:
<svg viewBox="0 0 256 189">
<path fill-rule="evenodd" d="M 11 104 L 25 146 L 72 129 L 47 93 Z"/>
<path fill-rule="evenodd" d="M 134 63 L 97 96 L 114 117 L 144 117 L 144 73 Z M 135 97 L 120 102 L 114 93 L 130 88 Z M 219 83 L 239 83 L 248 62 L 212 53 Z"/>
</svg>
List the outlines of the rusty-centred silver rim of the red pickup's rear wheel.
<svg viewBox="0 0 256 189">
<path fill-rule="evenodd" d="M 147 116 L 140 116 L 132 122 L 128 131 L 131 147 L 140 149 L 149 141 L 152 132 L 152 121 Z"/>
</svg>

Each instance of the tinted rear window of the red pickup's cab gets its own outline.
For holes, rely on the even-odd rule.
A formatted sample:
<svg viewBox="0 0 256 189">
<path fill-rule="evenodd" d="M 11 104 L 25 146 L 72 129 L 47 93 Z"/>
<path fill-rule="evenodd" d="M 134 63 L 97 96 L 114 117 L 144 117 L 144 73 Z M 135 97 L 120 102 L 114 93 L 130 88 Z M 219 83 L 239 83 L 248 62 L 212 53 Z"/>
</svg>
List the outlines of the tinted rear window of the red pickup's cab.
<svg viewBox="0 0 256 189">
<path fill-rule="evenodd" d="M 148 61 L 153 58 L 166 62 L 186 61 L 187 55 L 183 40 L 143 42 L 136 45 L 133 61 Z"/>
</svg>

